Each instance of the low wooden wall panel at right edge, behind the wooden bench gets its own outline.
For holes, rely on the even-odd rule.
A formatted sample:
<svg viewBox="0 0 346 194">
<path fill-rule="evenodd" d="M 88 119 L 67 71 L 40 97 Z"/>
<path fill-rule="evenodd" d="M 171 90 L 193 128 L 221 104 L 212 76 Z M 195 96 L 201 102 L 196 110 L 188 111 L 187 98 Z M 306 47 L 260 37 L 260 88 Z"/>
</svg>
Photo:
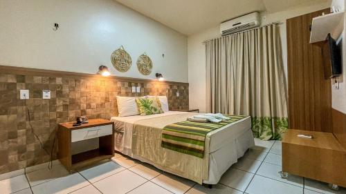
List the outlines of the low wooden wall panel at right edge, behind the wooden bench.
<svg viewBox="0 0 346 194">
<path fill-rule="evenodd" d="M 333 134 L 346 149 L 346 114 L 333 108 Z"/>
</svg>

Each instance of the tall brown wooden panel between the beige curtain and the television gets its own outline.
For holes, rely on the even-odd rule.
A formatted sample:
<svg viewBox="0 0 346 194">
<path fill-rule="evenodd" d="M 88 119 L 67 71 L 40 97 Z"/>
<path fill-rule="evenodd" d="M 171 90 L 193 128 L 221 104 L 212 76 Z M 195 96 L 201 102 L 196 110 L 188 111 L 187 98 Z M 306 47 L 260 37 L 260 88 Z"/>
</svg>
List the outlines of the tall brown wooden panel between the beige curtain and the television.
<svg viewBox="0 0 346 194">
<path fill-rule="evenodd" d="M 331 80 L 324 79 L 321 48 L 309 43 L 313 17 L 329 9 L 287 19 L 289 128 L 332 131 Z"/>
</svg>

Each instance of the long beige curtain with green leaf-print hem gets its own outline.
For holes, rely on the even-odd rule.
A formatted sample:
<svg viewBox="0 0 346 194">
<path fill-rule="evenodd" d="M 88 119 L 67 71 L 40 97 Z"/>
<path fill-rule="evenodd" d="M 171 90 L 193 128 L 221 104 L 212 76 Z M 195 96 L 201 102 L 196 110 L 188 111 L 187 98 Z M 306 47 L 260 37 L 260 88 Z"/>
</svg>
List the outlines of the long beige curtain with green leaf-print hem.
<svg viewBox="0 0 346 194">
<path fill-rule="evenodd" d="M 286 81 L 278 26 L 206 42 L 207 109 L 251 115 L 260 139 L 281 139 L 288 127 Z"/>
</svg>

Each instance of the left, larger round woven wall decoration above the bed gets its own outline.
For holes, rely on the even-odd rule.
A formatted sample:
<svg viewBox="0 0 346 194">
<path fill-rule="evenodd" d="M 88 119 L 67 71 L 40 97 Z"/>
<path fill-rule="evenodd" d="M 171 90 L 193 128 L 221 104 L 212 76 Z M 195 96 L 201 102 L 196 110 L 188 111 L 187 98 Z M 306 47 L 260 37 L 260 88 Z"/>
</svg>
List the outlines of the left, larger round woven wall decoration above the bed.
<svg viewBox="0 0 346 194">
<path fill-rule="evenodd" d="M 131 68 L 132 60 L 129 53 L 121 46 L 111 54 L 111 64 L 120 72 L 127 72 Z"/>
</svg>

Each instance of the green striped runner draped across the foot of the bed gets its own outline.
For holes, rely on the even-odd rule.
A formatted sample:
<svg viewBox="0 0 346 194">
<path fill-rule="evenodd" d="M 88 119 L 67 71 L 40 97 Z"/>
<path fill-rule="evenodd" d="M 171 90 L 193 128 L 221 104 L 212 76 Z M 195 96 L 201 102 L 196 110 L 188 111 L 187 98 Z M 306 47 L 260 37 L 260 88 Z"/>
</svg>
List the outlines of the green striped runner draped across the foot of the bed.
<svg viewBox="0 0 346 194">
<path fill-rule="evenodd" d="M 243 115 L 225 115 L 230 119 L 220 123 L 178 122 L 167 125 L 162 131 L 163 148 L 203 158 L 206 135 L 233 122 L 244 119 Z"/>
</svg>

